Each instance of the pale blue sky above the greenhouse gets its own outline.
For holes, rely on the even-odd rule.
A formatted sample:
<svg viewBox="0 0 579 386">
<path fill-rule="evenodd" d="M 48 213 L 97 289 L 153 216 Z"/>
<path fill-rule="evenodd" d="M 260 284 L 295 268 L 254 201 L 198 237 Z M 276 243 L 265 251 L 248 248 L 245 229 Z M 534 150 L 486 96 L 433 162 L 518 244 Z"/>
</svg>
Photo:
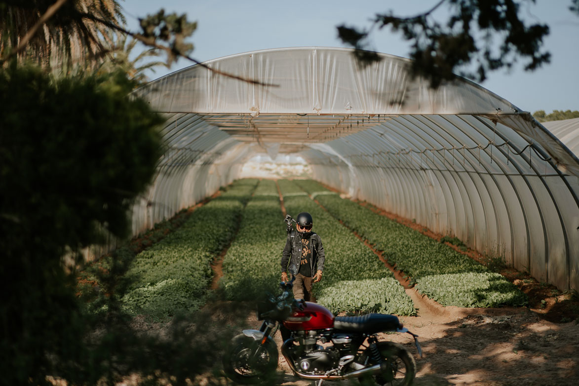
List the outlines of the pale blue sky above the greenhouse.
<svg viewBox="0 0 579 386">
<path fill-rule="evenodd" d="M 397 16 L 415 16 L 432 8 L 439 0 L 124 0 L 120 5 L 127 27 L 138 31 L 138 18 L 164 8 L 166 13 L 185 13 L 197 21 L 190 37 L 195 49 L 191 57 L 206 61 L 232 54 L 280 47 L 346 47 L 336 26 L 369 27 L 376 13 L 394 11 Z M 579 16 L 569 11 L 570 0 L 537 0 L 525 3 L 523 17 L 529 22 L 549 25 L 544 48 L 551 63 L 533 72 L 523 70 L 521 61 L 510 71 L 488 73 L 479 83 L 523 111 L 579 110 Z M 448 12 L 438 8 L 433 17 L 445 20 Z M 410 43 L 388 29 L 371 36 L 377 52 L 408 57 Z M 156 79 L 192 63 L 180 59 L 170 69 L 157 67 Z"/>
</svg>

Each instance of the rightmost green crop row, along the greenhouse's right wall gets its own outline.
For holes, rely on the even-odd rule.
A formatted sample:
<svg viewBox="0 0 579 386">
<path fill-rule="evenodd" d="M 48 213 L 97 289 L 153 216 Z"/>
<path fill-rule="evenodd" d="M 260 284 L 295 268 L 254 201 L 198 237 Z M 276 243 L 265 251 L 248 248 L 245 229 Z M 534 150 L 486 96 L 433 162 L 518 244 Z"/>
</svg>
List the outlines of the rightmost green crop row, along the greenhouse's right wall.
<svg viewBox="0 0 579 386">
<path fill-rule="evenodd" d="M 504 277 L 493 277 L 489 287 L 485 266 L 416 230 L 373 212 L 367 207 L 332 194 L 320 183 L 298 180 L 299 186 L 324 206 L 335 218 L 356 231 L 383 252 L 389 263 L 404 271 L 419 292 L 445 306 L 496 307 L 518 305 L 526 296 Z M 452 280 L 450 280 L 452 279 Z M 475 295 L 474 295 L 475 294 Z"/>
</svg>

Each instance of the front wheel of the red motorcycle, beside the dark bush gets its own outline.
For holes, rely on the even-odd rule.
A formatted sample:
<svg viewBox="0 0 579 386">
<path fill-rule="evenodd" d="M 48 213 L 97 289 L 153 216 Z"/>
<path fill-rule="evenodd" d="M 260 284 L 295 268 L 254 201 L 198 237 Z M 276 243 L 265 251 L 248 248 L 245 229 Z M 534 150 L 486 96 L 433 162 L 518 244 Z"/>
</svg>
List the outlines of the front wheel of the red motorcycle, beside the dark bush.
<svg viewBox="0 0 579 386">
<path fill-rule="evenodd" d="M 231 340 L 231 350 L 223 355 L 223 371 L 232 381 L 240 384 L 255 384 L 275 374 L 277 347 L 267 340 L 259 344 L 244 334 Z"/>
</svg>

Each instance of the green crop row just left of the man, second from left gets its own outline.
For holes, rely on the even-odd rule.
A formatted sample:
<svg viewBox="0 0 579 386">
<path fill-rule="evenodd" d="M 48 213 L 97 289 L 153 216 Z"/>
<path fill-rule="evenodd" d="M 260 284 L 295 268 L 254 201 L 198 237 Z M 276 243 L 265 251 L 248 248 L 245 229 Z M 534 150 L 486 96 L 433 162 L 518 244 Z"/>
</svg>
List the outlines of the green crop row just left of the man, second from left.
<svg viewBox="0 0 579 386">
<path fill-rule="evenodd" d="M 277 293 L 285 223 L 276 182 L 262 180 L 243 212 L 237 237 L 223 259 L 219 286 L 230 300 Z"/>
</svg>

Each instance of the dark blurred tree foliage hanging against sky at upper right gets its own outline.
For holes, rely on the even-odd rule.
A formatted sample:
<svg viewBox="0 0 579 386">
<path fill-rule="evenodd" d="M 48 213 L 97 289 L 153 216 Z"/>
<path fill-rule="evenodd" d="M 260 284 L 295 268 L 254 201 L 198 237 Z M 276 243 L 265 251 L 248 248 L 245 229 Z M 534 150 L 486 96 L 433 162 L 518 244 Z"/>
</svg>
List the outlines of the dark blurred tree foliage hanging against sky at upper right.
<svg viewBox="0 0 579 386">
<path fill-rule="evenodd" d="M 549 27 L 522 19 L 522 5 L 528 2 L 534 0 L 441 0 L 413 17 L 376 14 L 373 25 L 401 32 L 411 43 L 412 75 L 429 79 L 431 87 L 454 79 L 454 73 L 482 82 L 489 71 L 511 68 L 518 60 L 527 71 L 549 63 L 551 54 L 543 49 Z M 432 13 L 444 3 L 450 17 L 439 23 Z M 579 14 L 579 2 L 572 0 L 569 9 Z M 371 47 L 368 30 L 340 25 L 338 36 L 365 63 L 378 60 L 375 54 L 363 53 Z"/>
</svg>

